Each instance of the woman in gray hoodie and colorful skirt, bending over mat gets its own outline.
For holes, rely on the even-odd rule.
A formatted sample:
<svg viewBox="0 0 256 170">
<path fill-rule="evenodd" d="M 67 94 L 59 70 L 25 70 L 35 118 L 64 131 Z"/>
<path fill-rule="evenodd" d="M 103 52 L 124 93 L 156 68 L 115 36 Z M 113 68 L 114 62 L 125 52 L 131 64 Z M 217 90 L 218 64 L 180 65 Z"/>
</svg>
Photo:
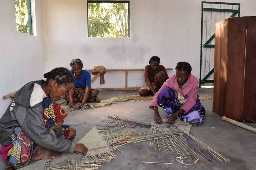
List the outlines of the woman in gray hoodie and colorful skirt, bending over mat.
<svg viewBox="0 0 256 170">
<path fill-rule="evenodd" d="M 67 113 L 54 101 L 73 87 L 72 75 L 66 68 L 56 68 L 44 78 L 46 81 L 32 81 L 18 90 L 0 119 L 0 153 L 11 167 L 59 158 L 63 153 L 85 155 L 88 150 L 84 144 L 71 142 L 76 130 L 62 125 Z"/>
</svg>

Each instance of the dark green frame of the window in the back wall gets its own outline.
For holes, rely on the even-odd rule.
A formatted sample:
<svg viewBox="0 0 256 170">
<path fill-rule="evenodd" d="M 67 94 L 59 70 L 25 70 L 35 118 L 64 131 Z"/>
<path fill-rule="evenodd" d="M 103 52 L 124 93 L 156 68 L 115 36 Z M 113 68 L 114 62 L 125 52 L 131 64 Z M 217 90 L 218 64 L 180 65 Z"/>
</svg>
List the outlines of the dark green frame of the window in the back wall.
<svg viewBox="0 0 256 170">
<path fill-rule="evenodd" d="M 128 3 L 128 37 L 100 37 L 100 38 L 130 38 L 130 1 L 108 1 L 108 0 L 103 0 L 103 1 L 88 0 L 87 1 L 87 37 L 95 38 L 95 37 L 89 37 L 89 16 L 88 16 L 89 3 L 123 3 L 123 4 Z"/>
</svg>

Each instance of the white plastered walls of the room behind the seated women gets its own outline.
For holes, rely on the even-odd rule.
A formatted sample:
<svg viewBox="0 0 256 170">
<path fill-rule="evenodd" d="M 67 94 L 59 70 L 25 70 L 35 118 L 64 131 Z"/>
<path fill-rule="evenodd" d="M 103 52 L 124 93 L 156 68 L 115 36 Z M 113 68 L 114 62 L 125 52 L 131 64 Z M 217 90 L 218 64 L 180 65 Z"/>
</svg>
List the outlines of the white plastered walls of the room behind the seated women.
<svg viewBox="0 0 256 170">
<path fill-rule="evenodd" d="M 219 2 L 240 3 L 240 16 L 256 15 L 255 0 Z M 199 77 L 200 0 L 130 0 L 130 38 L 88 38 L 86 0 L 35 0 L 31 4 L 35 4 L 37 36 L 17 32 L 14 0 L 0 0 L 0 97 L 43 78 L 45 70 L 70 68 L 70 60 L 77 57 L 86 69 L 101 64 L 119 69 L 144 68 L 151 56 L 158 55 L 165 67 L 189 62 Z M 175 71 L 168 73 L 172 76 Z M 92 87 L 124 87 L 124 77 L 124 72 L 108 72 L 106 84 L 100 85 L 97 79 Z M 129 72 L 128 86 L 137 85 L 144 85 L 143 72 Z M 0 117 L 10 102 L 0 99 Z"/>
</svg>

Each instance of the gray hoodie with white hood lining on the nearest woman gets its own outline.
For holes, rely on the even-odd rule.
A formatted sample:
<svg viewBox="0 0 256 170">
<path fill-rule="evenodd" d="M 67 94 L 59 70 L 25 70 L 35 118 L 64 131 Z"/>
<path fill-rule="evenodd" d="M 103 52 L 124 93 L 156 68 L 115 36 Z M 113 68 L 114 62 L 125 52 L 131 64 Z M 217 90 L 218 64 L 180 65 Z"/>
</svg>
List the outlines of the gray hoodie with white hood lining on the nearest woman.
<svg viewBox="0 0 256 170">
<path fill-rule="evenodd" d="M 27 83 L 15 93 L 14 101 L 0 119 L 1 144 L 12 143 L 13 129 L 20 126 L 35 144 L 52 151 L 73 153 L 76 143 L 66 140 L 60 128 L 53 131 L 45 128 L 42 101 L 47 96 L 36 82 Z"/>
</svg>

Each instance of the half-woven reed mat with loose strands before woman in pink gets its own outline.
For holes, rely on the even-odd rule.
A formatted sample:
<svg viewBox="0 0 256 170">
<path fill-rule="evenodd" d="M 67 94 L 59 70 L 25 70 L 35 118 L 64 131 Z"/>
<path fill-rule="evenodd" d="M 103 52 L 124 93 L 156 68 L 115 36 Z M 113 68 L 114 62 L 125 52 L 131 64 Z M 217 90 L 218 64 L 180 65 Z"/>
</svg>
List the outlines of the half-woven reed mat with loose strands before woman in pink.
<svg viewBox="0 0 256 170">
<path fill-rule="evenodd" d="M 177 120 L 174 124 L 157 124 L 153 121 L 149 123 L 136 122 L 129 118 L 122 119 L 118 116 L 106 117 L 111 119 L 111 121 L 108 121 L 100 129 L 112 130 L 113 132 L 129 126 L 138 127 L 138 129 L 142 128 L 139 130 L 139 133 L 131 135 L 131 138 L 127 140 L 129 143 L 150 141 L 150 148 L 152 147 L 159 151 L 163 150 L 164 153 L 171 151 L 174 154 L 188 156 L 190 158 L 200 158 L 198 154 L 200 153 L 210 162 L 220 163 L 223 160 L 230 161 L 204 142 L 190 135 L 189 130 L 192 126 L 190 123 Z"/>
</svg>

